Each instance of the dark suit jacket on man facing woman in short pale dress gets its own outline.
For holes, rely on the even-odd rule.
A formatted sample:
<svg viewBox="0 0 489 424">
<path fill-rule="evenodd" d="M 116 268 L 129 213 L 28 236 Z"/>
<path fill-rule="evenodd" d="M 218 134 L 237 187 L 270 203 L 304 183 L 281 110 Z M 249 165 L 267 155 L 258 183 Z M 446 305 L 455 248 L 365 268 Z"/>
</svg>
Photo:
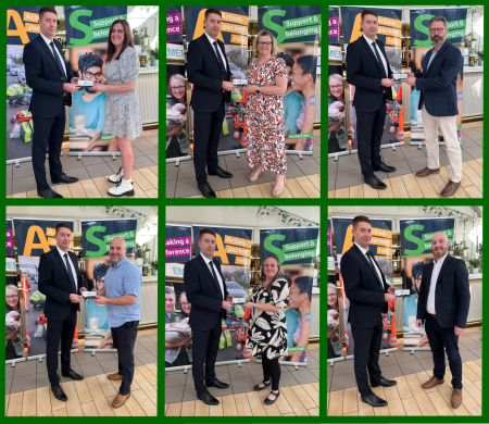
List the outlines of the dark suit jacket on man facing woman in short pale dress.
<svg viewBox="0 0 489 424">
<path fill-rule="evenodd" d="M 54 46 L 64 61 L 61 43 L 54 40 Z M 64 108 L 63 74 L 40 35 L 25 45 L 23 59 L 27 85 L 33 88 L 29 111 L 39 117 L 58 116 Z M 68 83 L 73 76 L 66 66 Z M 67 105 L 72 105 L 72 93 L 68 93 Z"/>
</svg>

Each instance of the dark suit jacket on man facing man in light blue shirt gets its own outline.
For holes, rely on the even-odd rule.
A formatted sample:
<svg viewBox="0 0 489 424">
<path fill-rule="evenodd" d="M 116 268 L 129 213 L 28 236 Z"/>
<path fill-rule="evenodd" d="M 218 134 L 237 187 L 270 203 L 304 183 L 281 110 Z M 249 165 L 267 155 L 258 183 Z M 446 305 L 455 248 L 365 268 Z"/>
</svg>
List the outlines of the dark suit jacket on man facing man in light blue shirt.
<svg viewBox="0 0 489 424">
<path fill-rule="evenodd" d="M 68 255 L 75 266 L 79 295 L 79 289 L 85 287 L 85 282 L 78 269 L 76 254 L 68 251 Z M 42 253 L 39 259 L 39 291 L 46 295 L 46 317 L 57 321 L 65 320 L 73 304 L 70 300 L 72 283 L 70 282 L 64 259 L 61 258 L 57 248 Z M 76 310 L 79 311 L 79 304 L 75 304 Z"/>
</svg>

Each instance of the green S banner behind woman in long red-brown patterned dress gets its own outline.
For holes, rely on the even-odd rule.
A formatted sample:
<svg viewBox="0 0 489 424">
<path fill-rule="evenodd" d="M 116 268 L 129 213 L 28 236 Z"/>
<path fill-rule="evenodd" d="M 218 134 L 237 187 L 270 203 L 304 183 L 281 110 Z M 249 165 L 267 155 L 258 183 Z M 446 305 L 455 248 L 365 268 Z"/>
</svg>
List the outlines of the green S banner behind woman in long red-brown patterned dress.
<svg viewBox="0 0 489 424">
<path fill-rule="evenodd" d="M 273 34 L 289 75 L 292 73 L 284 96 L 286 151 L 312 152 L 321 5 L 259 5 L 258 14 L 259 32 Z"/>
</svg>

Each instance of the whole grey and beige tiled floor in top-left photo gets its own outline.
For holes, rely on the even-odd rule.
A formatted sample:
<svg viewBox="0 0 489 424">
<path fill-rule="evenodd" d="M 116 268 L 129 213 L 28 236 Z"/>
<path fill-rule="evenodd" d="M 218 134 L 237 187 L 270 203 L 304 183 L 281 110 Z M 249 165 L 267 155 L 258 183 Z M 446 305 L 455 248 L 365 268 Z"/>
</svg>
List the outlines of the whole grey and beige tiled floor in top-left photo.
<svg viewBox="0 0 489 424">
<path fill-rule="evenodd" d="M 135 197 L 158 197 L 158 129 L 146 130 L 141 137 L 133 141 L 135 179 Z M 49 175 L 49 162 L 46 161 L 48 183 L 60 195 L 67 198 L 100 198 L 109 197 L 106 177 L 118 171 L 121 159 L 112 157 L 76 157 L 68 155 L 68 149 L 63 148 L 61 158 L 63 171 L 78 177 L 75 184 L 51 185 Z M 32 162 L 22 162 L 18 167 L 14 164 L 7 165 L 7 197 L 37 198 L 36 180 Z"/>
</svg>

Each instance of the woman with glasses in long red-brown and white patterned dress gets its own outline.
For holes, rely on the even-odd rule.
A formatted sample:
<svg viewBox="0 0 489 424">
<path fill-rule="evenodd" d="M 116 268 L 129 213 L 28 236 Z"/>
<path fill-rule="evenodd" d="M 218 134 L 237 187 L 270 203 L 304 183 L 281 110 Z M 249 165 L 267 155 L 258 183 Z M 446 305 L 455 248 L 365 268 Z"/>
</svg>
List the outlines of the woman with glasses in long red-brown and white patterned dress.
<svg viewBox="0 0 489 424">
<path fill-rule="evenodd" d="M 247 100 L 248 164 L 250 182 L 254 183 L 265 170 L 277 174 L 273 196 L 284 191 L 287 171 L 284 149 L 284 95 L 288 73 L 283 59 L 275 57 L 277 43 L 263 29 L 255 37 L 258 57 L 248 66 L 248 83 L 242 88 Z M 258 48 L 258 49 L 256 49 Z"/>
</svg>

